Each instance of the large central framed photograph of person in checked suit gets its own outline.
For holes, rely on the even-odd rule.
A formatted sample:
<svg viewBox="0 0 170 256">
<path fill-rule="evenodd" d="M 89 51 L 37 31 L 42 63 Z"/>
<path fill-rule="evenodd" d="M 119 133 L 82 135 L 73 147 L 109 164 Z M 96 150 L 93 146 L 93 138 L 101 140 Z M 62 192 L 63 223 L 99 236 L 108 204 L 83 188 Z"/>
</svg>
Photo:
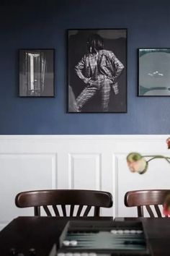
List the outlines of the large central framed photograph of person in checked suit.
<svg viewBox="0 0 170 256">
<path fill-rule="evenodd" d="M 127 112 L 127 29 L 68 30 L 68 113 Z"/>
</svg>

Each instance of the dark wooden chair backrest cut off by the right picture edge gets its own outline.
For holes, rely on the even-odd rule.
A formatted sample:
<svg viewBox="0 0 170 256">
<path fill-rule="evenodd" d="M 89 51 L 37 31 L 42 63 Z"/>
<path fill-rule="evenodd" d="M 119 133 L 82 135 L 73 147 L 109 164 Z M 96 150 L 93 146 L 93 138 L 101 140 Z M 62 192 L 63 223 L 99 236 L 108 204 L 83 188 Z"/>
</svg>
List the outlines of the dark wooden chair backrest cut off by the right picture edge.
<svg viewBox="0 0 170 256">
<path fill-rule="evenodd" d="M 144 217 L 144 208 L 151 218 L 163 217 L 159 205 L 164 204 L 166 195 L 170 193 L 170 189 L 148 189 L 134 190 L 126 192 L 125 205 L 127 207 L 136 206 L 138 209 L 138 217 Z M 167 217 L 167 216 L 166 216 Z"/>
</svg>

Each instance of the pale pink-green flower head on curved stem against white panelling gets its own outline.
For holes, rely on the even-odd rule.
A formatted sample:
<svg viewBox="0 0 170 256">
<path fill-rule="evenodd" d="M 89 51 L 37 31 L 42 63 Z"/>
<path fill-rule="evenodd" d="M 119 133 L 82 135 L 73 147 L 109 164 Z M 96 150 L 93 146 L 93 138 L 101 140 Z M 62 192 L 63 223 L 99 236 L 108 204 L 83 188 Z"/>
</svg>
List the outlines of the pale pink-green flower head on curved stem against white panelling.
<svg viewBox="0 0 170 256">
<path fill-rule="evenodd" d="M 130 153 L 127 156 L 127 163 L 130 171 L 144 174 L 147 171 L 148 163 L 139 153 Z"/>
</svg>

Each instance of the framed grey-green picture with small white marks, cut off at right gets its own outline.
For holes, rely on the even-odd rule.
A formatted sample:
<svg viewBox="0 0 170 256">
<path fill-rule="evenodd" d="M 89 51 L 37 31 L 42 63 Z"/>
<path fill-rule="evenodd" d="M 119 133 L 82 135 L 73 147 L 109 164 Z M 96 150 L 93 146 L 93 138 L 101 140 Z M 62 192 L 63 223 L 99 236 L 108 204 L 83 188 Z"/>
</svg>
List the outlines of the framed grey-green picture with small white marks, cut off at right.
<svg viewBox="0 0 170 256">
<path fill-rule="evenodd" d="M 170 96 L 170 48 L 138 49 L 138 96 Z"/>
</svg>

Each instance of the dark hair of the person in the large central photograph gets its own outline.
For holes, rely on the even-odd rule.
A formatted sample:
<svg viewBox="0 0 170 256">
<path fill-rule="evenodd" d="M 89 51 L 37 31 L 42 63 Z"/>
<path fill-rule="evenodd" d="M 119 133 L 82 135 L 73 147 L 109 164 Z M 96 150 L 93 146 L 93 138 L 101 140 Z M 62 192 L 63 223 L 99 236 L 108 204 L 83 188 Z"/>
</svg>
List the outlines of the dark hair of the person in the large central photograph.
<svg viewBox="0 0 170 256">
<path fill-rule="evenodd" d="M 91 54 L 96 54 L 97 51 L 104 48 L 103 39 L 100 35 L 92 34 L 87 40 L 87 48 Z"/>
</svg>

